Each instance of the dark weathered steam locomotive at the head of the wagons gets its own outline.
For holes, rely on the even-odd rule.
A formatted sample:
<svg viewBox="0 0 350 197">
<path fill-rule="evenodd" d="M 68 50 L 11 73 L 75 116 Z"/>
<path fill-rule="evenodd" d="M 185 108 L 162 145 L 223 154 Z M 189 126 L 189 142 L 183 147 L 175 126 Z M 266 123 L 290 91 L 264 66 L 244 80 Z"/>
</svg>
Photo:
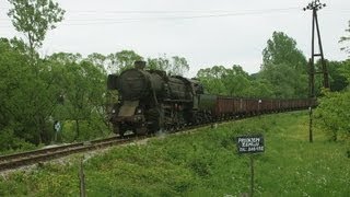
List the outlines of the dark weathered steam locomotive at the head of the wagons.
<svg viewBox="0 0 350 197">
<path fill-rule="evenodd" d="M 203 93 L 198 81 L 145 70 L 144 61 L 136 61 L 135 68 L 120 76 L 109 74 L 107 86 L 119 93 L 110 123 L 120 136 L 127 130 L 143 135 L 191 124 L 197 94 Z"/>
</svg>

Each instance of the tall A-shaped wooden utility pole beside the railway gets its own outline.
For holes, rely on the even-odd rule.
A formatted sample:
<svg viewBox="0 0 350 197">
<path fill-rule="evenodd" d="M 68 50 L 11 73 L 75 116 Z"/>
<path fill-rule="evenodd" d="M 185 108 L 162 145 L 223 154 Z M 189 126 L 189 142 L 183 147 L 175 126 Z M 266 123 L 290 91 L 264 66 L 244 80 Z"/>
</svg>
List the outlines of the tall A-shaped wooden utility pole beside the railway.
<svg viewBox="0 0 350 197">
<path fill-rule="evenodd" d="M 314 0 L 311 3 L 307 4 L 303 10 L 311 10 L 313 12 L 313 20 L 312 20 L 312 53 L 311 58 L 308 60 L 308 97 L 310 97 L 310 129 L 308 129 L 308 140 L 310 142 L 313 142 L 313 104 L 316 100 L 315 94 L 315 74 L 320 73 L 324 76 L 323 85 L 326 89 L 329 89 L 329 81 L 328 81 L 328 71 L 326 67 L 326 61 L 324 57 L 324 50 L 322 47 L 320 42 L 320 33 L 319 33 L 319 26 L 318 26 L 318 19 L 317 19 L 317 11 L 325 8 L 325 3 L 320 3 L 319 0 Z M 319 53 L 315 53 L 315 27 L 317 32 L 317 38 L 318 38 L 318 47 Z M 322 71 L 315 71 L 315 57 L 320 57 L 320 63 L 322 63 Z"/>
</svg>

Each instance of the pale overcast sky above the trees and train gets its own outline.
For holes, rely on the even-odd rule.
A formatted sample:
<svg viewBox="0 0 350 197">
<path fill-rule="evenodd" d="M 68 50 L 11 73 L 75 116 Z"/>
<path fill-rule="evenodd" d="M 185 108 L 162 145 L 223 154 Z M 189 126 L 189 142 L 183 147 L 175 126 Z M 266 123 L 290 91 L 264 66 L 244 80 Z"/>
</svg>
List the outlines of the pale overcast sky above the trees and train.
<svg viewBox="0 0 350 197">
<path fill-rule="evenodd" d="M 293 37 L 311 55 L 311 11 L 305 0 L 57 0 L 65 21 L 47 34 L 42 55 L 57 51 L 104 55 L 132 49 L 143 57 L 185 57 L 187 77 L 215 65 L 241 65 L 249 73 L 261 65 L 261 51 L 273 31 Z M 324 0 L 318 12 L 325 57 L 343 60 L 339 37 L 350 20 L 349 0 Z M 0 37 L 21 34 L 0 1 Z"/>
</svg>

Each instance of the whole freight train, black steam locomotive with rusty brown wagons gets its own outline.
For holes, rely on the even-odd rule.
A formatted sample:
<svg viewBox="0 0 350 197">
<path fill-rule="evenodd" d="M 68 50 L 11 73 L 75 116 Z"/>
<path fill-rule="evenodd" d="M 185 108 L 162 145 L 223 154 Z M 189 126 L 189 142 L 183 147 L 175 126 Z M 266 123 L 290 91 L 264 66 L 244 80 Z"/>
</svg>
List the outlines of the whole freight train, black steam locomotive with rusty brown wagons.
<svg viewBox="0 0 350 197">
<path fill-rule="evenodd" d="M 161 70 L 145 70 L 144 61 L 136 61 L 135 68 L 119 76 L 109 74 L 107 88 L 119 93 L 109 120 L 114 132 L 120 136 L 128 130 L 145 135 L 314 105 L 313 101 L 305 99 L 241 99 L 205 94 L 198 80 L 167 76 Z"/>
</svg>

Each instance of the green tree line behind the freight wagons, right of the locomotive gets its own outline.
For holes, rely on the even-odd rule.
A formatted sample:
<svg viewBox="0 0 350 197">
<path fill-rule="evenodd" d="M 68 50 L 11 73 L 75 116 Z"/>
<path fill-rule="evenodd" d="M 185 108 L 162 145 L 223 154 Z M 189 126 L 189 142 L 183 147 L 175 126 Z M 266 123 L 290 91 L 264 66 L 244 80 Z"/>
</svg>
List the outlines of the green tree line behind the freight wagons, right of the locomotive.
<svg viewBox="0 0 350 197">
<path fill-rule="evenodd" d="M 341 91 L 348 85 L 342 74 L 347 66 L 347 61 L 327 61 L 331 91 Z M 320 62 L 316 67 L 319 68 Z M 249 76 L 237 65 L 231 68 L 214 66 L 199 70 L 197 78 L 212 94 L 278 99 L 308 96 L 307 60 L 298 49 L 296 42 L 282 32 L 273 32 L 268 39 L 259 72 Z M 317 95 L 320 90 L 322 79 L 317 76 Z"/>
</svg>

